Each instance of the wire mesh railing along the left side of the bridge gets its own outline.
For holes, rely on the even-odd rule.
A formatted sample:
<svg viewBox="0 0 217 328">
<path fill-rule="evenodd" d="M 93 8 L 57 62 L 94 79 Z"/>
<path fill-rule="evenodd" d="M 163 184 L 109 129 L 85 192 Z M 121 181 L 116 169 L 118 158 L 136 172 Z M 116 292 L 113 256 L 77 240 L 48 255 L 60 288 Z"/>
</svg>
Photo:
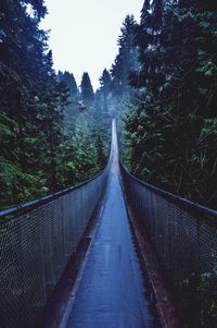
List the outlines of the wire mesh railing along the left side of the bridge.
<svg viewBox="0 0 217 328">
<path fill-rule="evenodd" d="M 76 187 L 0 212 L 1 328 L 35 326 L 88 226 L 108 170 L 110 163 Z"/>
</svg>

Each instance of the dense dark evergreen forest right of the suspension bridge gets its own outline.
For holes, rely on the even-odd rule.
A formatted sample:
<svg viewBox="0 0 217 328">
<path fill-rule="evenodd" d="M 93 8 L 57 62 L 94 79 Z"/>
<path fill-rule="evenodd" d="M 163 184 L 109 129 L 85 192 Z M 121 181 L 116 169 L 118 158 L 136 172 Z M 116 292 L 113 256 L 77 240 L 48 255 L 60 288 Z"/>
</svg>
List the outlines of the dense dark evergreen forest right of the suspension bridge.
<svg viewBox="0 0 217 328">
<path fill-rule="evenodd" d="M 145 0 L 112 66 L 122 155 L 138 178 L 217 204 L 217 4 Z"/>
</svg>

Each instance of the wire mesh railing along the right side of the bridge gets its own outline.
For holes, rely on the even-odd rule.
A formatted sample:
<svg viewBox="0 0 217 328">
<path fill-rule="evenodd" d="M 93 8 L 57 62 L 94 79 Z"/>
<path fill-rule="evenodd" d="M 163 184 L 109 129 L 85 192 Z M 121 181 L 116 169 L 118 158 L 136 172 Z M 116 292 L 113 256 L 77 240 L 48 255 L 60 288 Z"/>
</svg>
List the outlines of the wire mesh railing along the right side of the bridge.
<svg viewBox="0 0 217 328">
<path fill-rule="evenodd" d="M 187 327 L 217 327 L 217 211 L 151 186 L 120 167 L 128 202 L 150 238 Z"/>
</svg>

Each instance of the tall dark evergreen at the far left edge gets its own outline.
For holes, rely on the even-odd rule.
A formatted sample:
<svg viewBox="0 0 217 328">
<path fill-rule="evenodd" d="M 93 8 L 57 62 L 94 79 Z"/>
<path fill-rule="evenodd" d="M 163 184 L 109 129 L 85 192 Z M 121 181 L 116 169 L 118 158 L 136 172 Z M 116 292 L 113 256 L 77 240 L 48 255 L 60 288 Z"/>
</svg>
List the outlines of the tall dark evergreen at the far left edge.
<svg viewBox="0 0 217 328">
<path fill-rule="evenodd" d="M 26 8 L 31 4 L 33 13 Z M 0 184 L 2 203 L 20 202 L 46 185 L 38 185 L 34 168 L 44 137 L 41 112 L 58 83 L 52 73 L 51 52 L 46 52 L 47 34 L 38 28 L 46 14 L 43 1 L 1 1 L 0 42 Z M 52 83 L 51 83 L 52 80 Z M 44 144 L 44 143 L 43 143 Z M 38 166 L 37 172 L 40 175 Z M 25 187 L 23 187 L 25 185 Z M 39 192 L 40 192 L 39 191 Z"/>
</svg>

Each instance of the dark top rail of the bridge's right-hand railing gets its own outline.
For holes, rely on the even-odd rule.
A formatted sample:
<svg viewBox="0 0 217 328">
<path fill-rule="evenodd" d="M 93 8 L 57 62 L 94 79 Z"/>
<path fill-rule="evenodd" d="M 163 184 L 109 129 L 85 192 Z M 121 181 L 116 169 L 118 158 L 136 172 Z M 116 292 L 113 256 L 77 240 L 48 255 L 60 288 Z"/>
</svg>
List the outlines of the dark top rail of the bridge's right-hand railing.
<svg viewBox="0 0 217 328">
<path fill-rule="evenodd" d="M 167 201 L 176 204 L 177 206 L 181 206 L 182 208 L 187 208 L 189 210 L 192 211 L 196 211 L 196 212 L 203 212 L 204 215 L 208 215 L 209 217 L 215 217 L 217 218 L 217 210 L 205 207 L 203 205 L 200 205 L 199 203 L 194 203 L 191 202 L 189 199 L 182 198 L 181 196 L 171 194 L 169 192 L 166 192 L 159 187 L 156 187 L 152 184 L 149 184 L 138 178 L 136 178 L 135 175 L 132 175 L 131 173 L 128 172 L 128 170 L 125 168 L 124 163 L 122 161 L 119 161 L 120 167 L 123 168 L 123 170 L 135 181 L 137 181 L 139 184 L 145 186 L 146 189 L 155 192 L 156 194 L 163 196 L 164 198 L 166 198 Z"/>
</svg>

